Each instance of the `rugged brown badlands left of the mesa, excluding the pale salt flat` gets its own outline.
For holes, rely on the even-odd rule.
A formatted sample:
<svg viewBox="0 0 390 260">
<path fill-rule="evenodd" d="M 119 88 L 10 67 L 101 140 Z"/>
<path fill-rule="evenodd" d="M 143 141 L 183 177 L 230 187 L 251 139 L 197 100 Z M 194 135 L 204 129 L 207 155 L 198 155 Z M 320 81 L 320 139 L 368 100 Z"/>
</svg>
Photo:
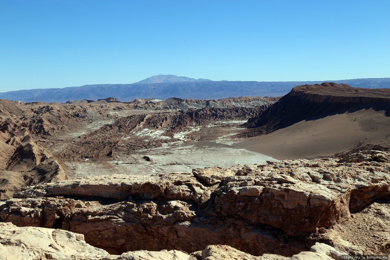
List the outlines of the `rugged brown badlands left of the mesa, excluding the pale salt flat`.
<svg viewBox="0 0 390 260">
<path fill-rule="evenodd" d="M 276 100 L 174 98 L 122 103 L 107 98 L 67 104 L 1 100 L 0 198 L 11 197 L 25 185 L 65 180 L 72 169 L 64 162 L 107 161 L 118 151 L 161 147 L 183 139 L 180 133 L 189 134 L 188 128 L 246 120 Z"/>
</svg>

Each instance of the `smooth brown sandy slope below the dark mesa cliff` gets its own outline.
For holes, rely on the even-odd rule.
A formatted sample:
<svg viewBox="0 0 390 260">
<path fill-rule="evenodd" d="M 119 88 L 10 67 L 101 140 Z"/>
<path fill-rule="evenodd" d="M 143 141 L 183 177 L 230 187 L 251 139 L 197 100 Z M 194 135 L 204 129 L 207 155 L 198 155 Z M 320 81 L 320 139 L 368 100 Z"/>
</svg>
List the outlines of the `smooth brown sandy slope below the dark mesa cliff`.
<svg viewBox="0 0 390 260">
<path fill-rule="evenodd" d="M 390 146 L 390 117 L 384 111 L 362 109 L 303 120 L 234 146 L 277 159 L 291 159 L 333 155 L 366 144 Z"/>
</svg>

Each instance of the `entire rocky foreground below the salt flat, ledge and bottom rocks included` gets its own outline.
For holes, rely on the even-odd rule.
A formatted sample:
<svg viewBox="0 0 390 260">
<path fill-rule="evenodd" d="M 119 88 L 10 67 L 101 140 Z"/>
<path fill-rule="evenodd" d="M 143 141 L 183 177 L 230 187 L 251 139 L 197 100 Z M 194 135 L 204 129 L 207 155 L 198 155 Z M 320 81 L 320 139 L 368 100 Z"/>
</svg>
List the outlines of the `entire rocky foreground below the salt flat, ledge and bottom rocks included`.
<svg viewBox="0 0 390 260">
<path fill-rule="evenodd" d="M 388 254 L 389 177 L 390 153 L 371 150 L 341 159 L 28 186 L 0 201 L 0 255 L 340 259 Z"/>
</svg>

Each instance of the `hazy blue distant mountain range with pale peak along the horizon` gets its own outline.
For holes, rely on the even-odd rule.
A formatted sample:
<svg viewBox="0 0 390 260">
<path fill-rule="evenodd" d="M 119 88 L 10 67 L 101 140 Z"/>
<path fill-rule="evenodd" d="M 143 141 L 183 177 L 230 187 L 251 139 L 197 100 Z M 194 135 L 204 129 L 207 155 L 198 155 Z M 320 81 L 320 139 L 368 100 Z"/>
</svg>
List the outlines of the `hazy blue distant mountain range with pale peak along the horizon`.
<svg viewBox="0 0 390 260">
<path fill-rule="evenodd" d="M 166 76 L 166 77 L 162 77 Z M 170 81 L 157 82 L 153 81 Z M 195 81 L 193 81 L 195 80 Z M 283 96 L 297 85 L 321 84 L 324 81 L 289 81 L 289 82 L 257 82 L 257 81 L 211 81 L 177 77 L 175 75 L 157 75 L 133 84 L 99 84 L 81 87 L 65 87 L 57 89 L 29 89 L 0 93 L 1 99 L 22 102 L 60 102 L 67 100 L 98 100 L 109 96 L 121 101 L 132 101 L 135 98 L 170 97 L 191 99 L 219 99 L 239 96 Z M 390 88 L 390 78 L 360 78 L 351 80 L 332 80 L 337 84 L 345 83 L 352 87 Z"/>
</svg>

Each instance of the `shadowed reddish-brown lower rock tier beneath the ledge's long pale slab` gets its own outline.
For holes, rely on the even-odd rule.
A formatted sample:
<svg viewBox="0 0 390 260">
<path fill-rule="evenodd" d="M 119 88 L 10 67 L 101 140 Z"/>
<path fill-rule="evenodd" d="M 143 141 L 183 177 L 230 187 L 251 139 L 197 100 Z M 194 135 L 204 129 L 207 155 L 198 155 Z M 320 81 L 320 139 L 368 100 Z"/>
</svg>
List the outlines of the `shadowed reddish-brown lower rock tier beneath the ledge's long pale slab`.
<svg viewBox="0 0 390 260">
<path fill-rule="evenodd" d="M 99 205 L 73 199 L 34 198 L 11 199 L 1 207 L 4 221 L 18 226 L 53 225 L 83 233 L 88 243 L 115 254 L 162 249 L 190 253 L 218 243 L 229 244 L 254 255 L 265 252 L 297 253 L 305 249 L 298 243 L 287 244 L 288 240 L 284 241 L 277 230 L 202 215 L 194 203 L 182 200 Z M 280 235 L 282 240 L 278 239 Z M 279 245 L 284 247 L 284 253 L 281 248 L 278 249 Z"/>
</svg>

